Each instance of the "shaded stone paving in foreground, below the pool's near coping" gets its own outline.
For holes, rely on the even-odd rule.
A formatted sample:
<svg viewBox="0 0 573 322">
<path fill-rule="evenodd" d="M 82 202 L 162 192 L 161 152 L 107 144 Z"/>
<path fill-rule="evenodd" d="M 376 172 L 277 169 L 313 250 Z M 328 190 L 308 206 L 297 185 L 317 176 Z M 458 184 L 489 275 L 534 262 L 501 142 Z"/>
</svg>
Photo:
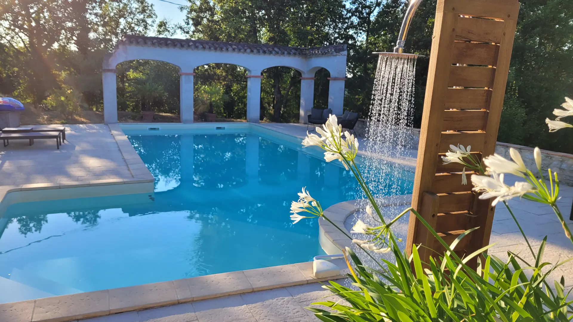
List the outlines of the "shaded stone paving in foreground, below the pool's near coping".
<svg viewBox="0 0 573 322">
<path fill-rule="evenodd" d="M 337 280 L 337 282 L 343 282 Z M 304 309 L 316 301 L 340 298 L 319 283 L 231 295 L 169 307 L 96 317 L 82 322 L 312 322 Z M 324 308 L 324 307 L 323 307 Z"/>
</svg>

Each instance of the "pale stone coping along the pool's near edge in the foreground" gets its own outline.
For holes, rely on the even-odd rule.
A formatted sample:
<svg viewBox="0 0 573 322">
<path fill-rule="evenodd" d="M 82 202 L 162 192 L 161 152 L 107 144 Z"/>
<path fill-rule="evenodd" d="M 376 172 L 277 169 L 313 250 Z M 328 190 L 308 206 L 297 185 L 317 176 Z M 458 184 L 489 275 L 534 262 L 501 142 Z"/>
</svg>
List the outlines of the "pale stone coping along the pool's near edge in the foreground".
<svg viewBox="0 0 573 322">
<path fill-rule="evenodd" d="M 204 275 L 0 304 L 0 321 L 68 322 L 90 317 L 345 278 L 312 276 L 312 262 Z"/>
</svg>

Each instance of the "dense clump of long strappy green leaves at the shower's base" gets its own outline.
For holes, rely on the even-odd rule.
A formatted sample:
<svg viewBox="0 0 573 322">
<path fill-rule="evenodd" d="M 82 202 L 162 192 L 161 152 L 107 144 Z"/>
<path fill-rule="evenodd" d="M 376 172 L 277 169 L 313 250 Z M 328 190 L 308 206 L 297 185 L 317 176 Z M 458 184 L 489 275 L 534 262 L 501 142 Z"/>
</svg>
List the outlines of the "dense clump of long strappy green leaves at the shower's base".
<svg viewBox="0 0 573 322">
<path fill-rule="evenodd" d="M 432 233 L 448 246 L 435 231 Z M 553 270 L 569 260 L 556 265 L 543 262 L 547 237 L 539 246 L 535 263 L 508 252 L 506 262 L 492 255 L 484 255 L 485 261 L 478 258 L 478 268 L 473 270 L 466 263 L 489 246 L 462 260 L 451 249 L 464 236 L 460 235 L 446 247 L 449 251 L 439 260 L 430 257 L 429 262 L 421 260 L 415 246 L 412 256 L 408 257 L 394 244 L 396 264 L 384 260 L 385 267 L 381 269 L 363 265 L 358 256 L 347 248 L 354 264 L 347 261 L 352 272 L 348 277 L 355 287 L 348 288 L 334 281 L 323 287 L 350 305 L 320 301 L 312 305 L 324 305 L 335 311 L 315 307 L 307 309 L 327 322 L 570 320 L 568 315 L 573 310 L 573 301 L 567 301 L 564 278 L 551 285 L 547 281 Z"/>
</svg>

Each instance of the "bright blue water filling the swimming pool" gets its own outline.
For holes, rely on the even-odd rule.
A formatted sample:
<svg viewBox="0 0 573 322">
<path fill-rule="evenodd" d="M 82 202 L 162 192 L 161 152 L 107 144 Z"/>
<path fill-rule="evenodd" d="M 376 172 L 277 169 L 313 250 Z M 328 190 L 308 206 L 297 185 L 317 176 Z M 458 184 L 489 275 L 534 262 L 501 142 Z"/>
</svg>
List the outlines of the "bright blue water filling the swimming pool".
<svg viewBox="0 0 573 322">
<path fill-rule="evenodd" d="M 0 303 L 309 261 L 323 251 L 316 219 L 291 223 L 297 192 L 306 186 L 324 208 L 358 198 L 351 172 L 280 139 L 128 138 L 154 196 L 11 205 L 0 218 L 0 289 L 10 290 Z"/>
</svg>

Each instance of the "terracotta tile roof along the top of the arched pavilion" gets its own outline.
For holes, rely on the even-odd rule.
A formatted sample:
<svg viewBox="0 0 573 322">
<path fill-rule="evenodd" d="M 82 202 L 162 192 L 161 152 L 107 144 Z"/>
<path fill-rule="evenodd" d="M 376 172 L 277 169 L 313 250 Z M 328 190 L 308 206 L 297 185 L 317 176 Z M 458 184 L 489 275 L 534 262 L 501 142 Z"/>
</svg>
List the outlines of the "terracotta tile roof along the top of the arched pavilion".
<svg viewBox="0 0 573 322">
<path fill-rule="evenodd" d="M 219 52 L 257 53 L 287 56 L 329 56 L 346 52 L 346 44 L 322 47 L 291 47 L 269 44 L 243 44 L 241 42 L 223 42 L 194 39 L 175 39 L 127 35 L 117 45 L 136 45 L 164 48 L 189 48 L 216 50 Z"/>
</svg>

